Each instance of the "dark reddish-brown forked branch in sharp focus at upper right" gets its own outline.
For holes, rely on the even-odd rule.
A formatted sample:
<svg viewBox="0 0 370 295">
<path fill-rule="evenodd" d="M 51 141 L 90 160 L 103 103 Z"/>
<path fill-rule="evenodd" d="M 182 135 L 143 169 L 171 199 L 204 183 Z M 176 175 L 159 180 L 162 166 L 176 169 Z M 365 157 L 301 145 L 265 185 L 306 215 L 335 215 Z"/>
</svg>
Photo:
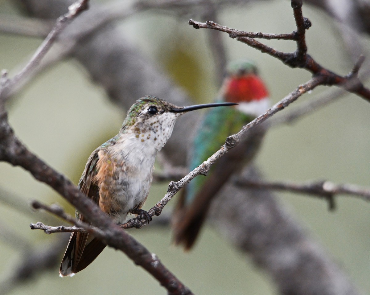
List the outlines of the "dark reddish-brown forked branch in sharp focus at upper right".
<svg viewBox="0 0 370 295">
<path fill-rule="evenodd" d="M 305 41 L 305 31 L 311 26 L 311 23 L 302 15 L 302 0 L 292 0 L 291 5 L 293 7 L 293 14 L 297 28 L 295 31 L 293 31 L 293 33 L 285 34 L 285 38 L 281 38 L 282 35 L 275 35 L 275 37 L 273 37 L 273 34 L 237 31 L 228 27 L 220 26 L 213 21 L 201 23 L 190 19 L 189 24 L 194 28 L 210 28 L 212 30 L 228 33 L 230 37 L 236 38 L 236 40 L 240 42 L 243 42 L 253 48 L 256 48 L 257 50 L 262 51 L 263 53 L 267 53 L 279 59 L 291 68 L 304 68 L 307 71 L 310 71 L 313 76 L 324 77 L 322 85 L 336 85 L 345 88 L 347 91 L 357 94 L 370 102 L 370 90 L 364 87 L 362 82 L 359 80 L 357 75 L 353 73 L 353 71 L 353 74 L 349 74 L 347 76 L 335 74 L 334 72 L 322 67 L 322 65 L 316 62 L 310 55 L 306 54 L 307 46 Z M 255 38 L 295 40 L 297 43 L 297 49 L 292 53 L 278 51 L 261 43 L 260 41 L 255 40 Z M 359 64 L 361 64 L 361 62 Z M 358 71 L 358 68 L 354 67 L 354 70 Z M 350 84 L 346 84 L 349 81 Z"/>
</svg>

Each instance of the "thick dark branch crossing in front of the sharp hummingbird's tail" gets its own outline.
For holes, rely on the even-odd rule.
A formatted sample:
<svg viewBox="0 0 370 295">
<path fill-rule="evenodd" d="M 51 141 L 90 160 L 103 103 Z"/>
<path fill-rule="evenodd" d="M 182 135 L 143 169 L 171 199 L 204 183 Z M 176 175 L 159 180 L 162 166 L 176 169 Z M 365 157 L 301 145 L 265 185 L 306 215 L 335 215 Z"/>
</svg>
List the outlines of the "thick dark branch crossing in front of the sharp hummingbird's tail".
<svg viewBox="0 0 370 295">
<path fill-rule="evenodd" d="M 114 224 L 111 218 L 105 215 L 91 199 L 82 194 L 70 180 L 28 151 L 7 125 L 6 116 L 0 119 L 0 160 L 23 167 L 37 180 L 48 184 L 64 196 L 94 226 L 102 230 L 94 230 L 96 237 L 111 247 L 125 252 L 135 264 L 152 274 L 170 294 L 191 294 L 191 291 L 171 274 L 155 255 L 152 255 L 143 245 Z"/>
</svg>

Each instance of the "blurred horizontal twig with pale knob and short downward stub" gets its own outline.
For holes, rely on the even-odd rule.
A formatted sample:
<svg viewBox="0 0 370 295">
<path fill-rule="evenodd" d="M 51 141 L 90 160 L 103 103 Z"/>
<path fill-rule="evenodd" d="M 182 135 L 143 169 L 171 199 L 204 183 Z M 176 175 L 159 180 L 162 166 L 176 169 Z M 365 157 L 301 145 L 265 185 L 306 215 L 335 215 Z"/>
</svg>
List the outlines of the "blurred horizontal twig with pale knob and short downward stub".
<svg viewBox="0 0 370 295">
<path fill-rule="evenodd" d="M 365 201 L 370 201 L 370 188 L 361 187 L 356 184 L 344 183 L 335 184 L 328 180 L 295 183 L 295 182 L 262 182 L 249 179 L 238 179 L 236 184 L 241 187 L 248 187 L 253 189 L 269 189 L 293 191 L 301 194 L 311 194 L 317 197 L 323 197 L 329 202 L 329 209 L 334 209 L 334 196 L 337 194 L 348 194 L 350 196 L 357 196 Z"/>
</svg>

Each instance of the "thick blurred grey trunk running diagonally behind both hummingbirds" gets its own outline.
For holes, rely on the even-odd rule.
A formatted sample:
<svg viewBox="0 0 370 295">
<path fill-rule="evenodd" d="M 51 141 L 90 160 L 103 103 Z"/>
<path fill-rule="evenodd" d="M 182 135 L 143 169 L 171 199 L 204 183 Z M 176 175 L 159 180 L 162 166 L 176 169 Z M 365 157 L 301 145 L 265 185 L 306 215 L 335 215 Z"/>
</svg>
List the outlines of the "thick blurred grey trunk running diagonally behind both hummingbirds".
<svg viewBox="0 0 370 295">
<path fill-rule="evenodd" d="M 23 1 L 32 3 L 31 0 Z M 57 8 L 47 7 L 48 11 L 44 13 L 49 17 L 55 15 Z M 37 11 L 33 13 L 39 14 Z M 88 19 L 85 23 L 89 23 Z M 188 103 L 186 95 L 169 82 L 164 72 L 154 67 L 152 62 L 139 54 L 137 48 L 130 45 L 127 39 L 122 36 L 122 30 L 113 26 L 101 26 L 98 30 L 90 31 L 90 34 L 81 39 L 76 42 L 71 55 L 81 62 L 91 73 L 95 82 L 101 84 L 118 104 L 128 107 L 132 104 L 132 100 L 137 99 L 139 95 L 148 93 L 155 93 L 178 105 Z M 106 44 L 110 44 L 110 46 L 108 47 Z M 112 56 L 115 57 L 113 61 Z M 137 75 L 140 75 L 141 79 L 137 79 Z M 177 124 L 178 129 L 175 130 L 171 143 L 169 142 L 165 147 L 166 156 L 174 165 L 184 163 L 185 137 L 188 137 L 186 135 L 189 135 L 194 121 L 191 113 L 189 116 L 188 120 Z M 179 131 L 179 129 L 181 130 Z M 178 145 L 180 140 L 182 145 Z M 235 187 L 232 186 L 233 188 Z M 308 294 L 309 290 L 318 290 L 322 287 L 322 290 L 327 291 L 326 294 L 334 294 L 333 292 L 336 290 L 338 290 L 336 294 L 356 294 L 356 290 L 353 286 L 349 286 L 348 279 L 342 272 L 338 271 L 333 263 L 327 263 L 328 259 L 320 247 L 314 244 L 311 239 L 305 238 L 306 233 L 297 226 L 297 221 L 290 216 L 281 214 L 283 210 L 276 202 L 270 197 L 262 199 L 251 197 L 249 200 L 245 197 L 245 190 L 240 190 L 239 193 L 231 196 L 240 196 L 237 200 L 229 199 L 229 193 L 222 194 L 220 199 L 224 203 L 220 207 L 221 210 L 216 208 L 212 212 L 219 215 L 220 211 L 226 210 L 230 214 L 218 216 L 219 222 L 217 224 L 224 233 L 229 234 L 229 237 L 236 233 L 234 235 L 236 243 L 245 245 L 244 248 L 240 247 L 240 249 L 249 252 L 250 257 L 271 273 L 274 278 L 279 276 L 277 286 L 280 290 L 286 291 L 286 294 Z M 256 212 L 262 212 L 262 214 L 256 214 Z M 230 222 L 224 220 L 224 217 L 231 217 Z M 235 221 L 236 217 L 242 217 L 242 220 Z M 281 220 L 283 222 L 276 222 Z M 269 228 L 266 228 L 267 222 Z M 292 231 L 295 232 L 295 235 L 291 234 Z M 295 243 L 289 244 L 292 239 L 282 239 L 283 235 L 289 238 L 297 236 L 300 238 L 293 239 Z M 286 253 L 300 253 L 302 255 L 292 255 L 291 259 L 287 261 L 283 259 L 286 257 Z M 299 264 L 300 262 L 302 264 Z M 297 269 L 303 269 L 302 274 Z M 312 281 L 313 284 L 307 285 L 309 281 Z M 304 290 L 300 290 L 299 287 L 302 282 L 305 286 Z M 348 291 L 348 289 L 351 290 Z"/>
</svg>

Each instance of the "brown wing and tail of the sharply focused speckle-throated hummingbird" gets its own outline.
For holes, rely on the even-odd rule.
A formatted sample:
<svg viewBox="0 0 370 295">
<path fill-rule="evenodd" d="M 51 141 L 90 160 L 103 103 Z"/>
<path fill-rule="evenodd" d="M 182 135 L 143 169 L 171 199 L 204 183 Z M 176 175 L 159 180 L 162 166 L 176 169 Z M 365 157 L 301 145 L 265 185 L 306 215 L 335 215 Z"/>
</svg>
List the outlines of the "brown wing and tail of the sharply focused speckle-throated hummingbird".
<svg viewBox="0 0 370 295">
<path fill-rule="evenodd" d="M 89 157 L 85 170 L 81 176 L 78 187 L 81 192 L 99 203 L 99 187 L 94 180 L 97 174 L 97 161 L 99 149 L 95 150 Z M 76 212 L 78 220 L 88 222 L 85 217 Z M 65 277 L 81 271 L 89 265 L 105 248 L 105 244 L 93 236 L 85 233 L 72 233 L 60 265 L 60 276 Z"/>
</svg>

